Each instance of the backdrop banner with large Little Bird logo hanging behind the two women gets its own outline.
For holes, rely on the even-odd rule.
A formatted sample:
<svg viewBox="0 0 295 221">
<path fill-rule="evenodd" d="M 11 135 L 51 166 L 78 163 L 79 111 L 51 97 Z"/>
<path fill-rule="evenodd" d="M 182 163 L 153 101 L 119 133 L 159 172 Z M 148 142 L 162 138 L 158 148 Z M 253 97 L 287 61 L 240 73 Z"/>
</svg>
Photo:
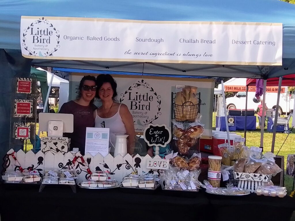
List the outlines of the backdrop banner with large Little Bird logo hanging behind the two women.
<svg viewBox="0 0 295 221">
<path fill-rule="evenodd" d="M 80 80 L 87 73 L 70 75 L 69 100 L 75 100 Z M 96 75 L 95 75 L 96 76 Z M 112 75 L 117 82 L 116 98 L 124 103 L 133 116 L 135 131 L 143 133 L 149 123 L 171 127 L 171 93 L 176 85 L 189 85 L 201 93 L 201 123 L 205 124 L 202 138 L 212 136 L 214 80 L 196 78 Z M 100 104 L 96 104 L 100 105 Z"/>
</svg>

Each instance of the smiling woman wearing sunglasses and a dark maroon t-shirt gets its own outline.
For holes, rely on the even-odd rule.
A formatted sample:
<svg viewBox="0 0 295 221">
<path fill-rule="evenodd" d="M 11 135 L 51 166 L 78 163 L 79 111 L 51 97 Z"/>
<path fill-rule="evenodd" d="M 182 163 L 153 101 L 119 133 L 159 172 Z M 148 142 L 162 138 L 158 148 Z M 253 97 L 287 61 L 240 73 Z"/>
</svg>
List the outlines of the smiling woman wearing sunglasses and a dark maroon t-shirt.
<svg viewBox="0 0 295 221">
<path fill-rule="evenodd" d="M 93 111 L 96 106 L 93 101 L 96 88 L 95 77 L 84 76 L 80 81 L 77 99 L 64 103 L 59 111 L 74 115 L 74 131 L 65 136 L 71 138 L 71 150 L 79 148 L 82 155 L 85 154 L 86 127 L 94 127 Z"/>
</svg>

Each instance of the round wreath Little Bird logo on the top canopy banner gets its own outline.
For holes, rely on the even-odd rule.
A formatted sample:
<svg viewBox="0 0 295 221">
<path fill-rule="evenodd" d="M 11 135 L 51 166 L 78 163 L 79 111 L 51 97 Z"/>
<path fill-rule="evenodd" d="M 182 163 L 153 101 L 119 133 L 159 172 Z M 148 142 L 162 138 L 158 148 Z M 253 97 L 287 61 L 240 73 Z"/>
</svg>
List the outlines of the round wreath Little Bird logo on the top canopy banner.
<svg viewBox="0 0 295 221">
<path fill-rule="evenodd" d="M 42 17 L 23 30 L 22 46 L 29 56 L 53 57 L 60 48 L 59 38 L 59 30 Z"/>
</svg>

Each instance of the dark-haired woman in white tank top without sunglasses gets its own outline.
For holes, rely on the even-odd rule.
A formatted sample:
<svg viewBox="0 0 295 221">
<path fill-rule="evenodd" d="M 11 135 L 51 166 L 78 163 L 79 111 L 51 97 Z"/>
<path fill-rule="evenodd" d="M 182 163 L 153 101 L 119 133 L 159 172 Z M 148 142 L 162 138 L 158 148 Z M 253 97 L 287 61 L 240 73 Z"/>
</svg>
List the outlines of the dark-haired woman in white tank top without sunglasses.
<svg viewBox="0 0 295 221">
<path fill-rule="evenodd" d="M 134 123 L 131 113 L 124 104 L 114 102 L 117 96 L 117 83 L 111 75 L 101 74 L 96 78 L 96 97 L 102 105 L 94 111 L 95 127 L 110 128 L 110 141 L 115 145 L 116 133 L 127 133 L 127 152 L 133 154 L 133 144 L 135 141 Z M 111 153 L 114 148 L 110 144 Z"/>
</svg>

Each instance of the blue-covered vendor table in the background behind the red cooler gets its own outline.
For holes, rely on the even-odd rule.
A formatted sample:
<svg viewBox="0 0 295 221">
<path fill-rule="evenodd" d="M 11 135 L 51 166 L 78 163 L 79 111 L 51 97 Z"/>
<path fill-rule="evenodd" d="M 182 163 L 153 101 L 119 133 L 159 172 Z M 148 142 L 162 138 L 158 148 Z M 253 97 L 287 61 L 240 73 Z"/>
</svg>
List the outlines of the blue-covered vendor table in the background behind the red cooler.
<svg viewBox="0 0 295 221">
<path fill-rule="evenodd" d="M 235 125 L 234 126 L 228 126 L 230 131 L 243 131 L 245 128 L 245 116 L 228 116 L 234 118 Z M 220 121 L 220 131 L 226 131 L 226 125 L 225 125 L 225 117 L 216 116 L 216 127 L 219 127 L 218 122 L 219 118 L 221 118 Z M 253 131 L 256 130 L 256 116 L 247 116 L 247 131 Z"/>
</svg>

